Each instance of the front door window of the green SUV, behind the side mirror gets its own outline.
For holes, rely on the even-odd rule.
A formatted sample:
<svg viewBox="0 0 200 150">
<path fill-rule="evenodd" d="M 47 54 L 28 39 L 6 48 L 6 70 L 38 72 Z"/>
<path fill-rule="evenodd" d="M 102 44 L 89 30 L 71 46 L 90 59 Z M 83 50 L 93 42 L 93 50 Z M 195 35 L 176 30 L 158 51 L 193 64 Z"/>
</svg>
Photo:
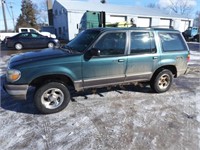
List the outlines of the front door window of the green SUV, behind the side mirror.
<svg viewBox="0 0 200 150">
<path fill-rule="evenodd" d="M 126 46 L 126 33 L 107 33 L 101 37 L 94 48 L 101 51 L 100 56 L 124 55 Z"/>
</svg>

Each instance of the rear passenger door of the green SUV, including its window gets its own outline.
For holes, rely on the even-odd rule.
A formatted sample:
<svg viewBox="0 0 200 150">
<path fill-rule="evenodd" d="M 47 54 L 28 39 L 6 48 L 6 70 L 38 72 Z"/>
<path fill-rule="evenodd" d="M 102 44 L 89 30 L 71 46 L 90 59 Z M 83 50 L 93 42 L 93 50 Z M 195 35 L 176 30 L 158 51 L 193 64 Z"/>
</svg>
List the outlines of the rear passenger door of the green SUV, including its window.
<svg viewBox="0 0 200 150">
<path fill-rule="evenodd" d="M 152 32 L 130 31 L 130 49 L 125 81 L 149 80 L 159 59 Z"/>
</svg>

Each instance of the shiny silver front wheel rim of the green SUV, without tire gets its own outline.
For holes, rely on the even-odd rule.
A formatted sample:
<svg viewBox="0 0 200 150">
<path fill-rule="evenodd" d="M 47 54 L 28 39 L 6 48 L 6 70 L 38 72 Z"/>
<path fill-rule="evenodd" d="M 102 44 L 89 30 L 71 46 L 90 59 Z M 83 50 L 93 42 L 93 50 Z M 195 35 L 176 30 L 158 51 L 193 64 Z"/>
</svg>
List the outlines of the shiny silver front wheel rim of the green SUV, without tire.
<svg viewBox="0 0 200 150">
<path fill-rule="evenodd" d="M 64 101 L 64 94 L 58 88 L 51 88 L 46 90 L 42 97 L 42 105 L 48 109 L 56 109 L 62 105 Z"/>
</svg>

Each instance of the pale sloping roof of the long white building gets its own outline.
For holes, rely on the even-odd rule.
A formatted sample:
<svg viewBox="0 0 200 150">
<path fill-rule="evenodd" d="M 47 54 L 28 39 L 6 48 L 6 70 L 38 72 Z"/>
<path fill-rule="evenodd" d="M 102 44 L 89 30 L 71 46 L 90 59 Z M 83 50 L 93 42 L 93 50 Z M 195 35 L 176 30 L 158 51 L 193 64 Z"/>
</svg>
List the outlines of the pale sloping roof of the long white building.
<svg viewBox="0 0 200 150">
<path fill-rule="evenodd" d="M 130 14 L 134 16 L 162 16 L 163 18 L 184 18 L 183 15 L 176 13 L 168 13 L 164 10 L 157 8 L 148 8 L 141 6 L 126 6 L 126 5 L 114 5 L 109 3 L 95 3 L 86 1 L 69 1 L 69 0 L 55 0 L 60 3 L 67 11 L 105 11 L 106 13 L 116 14 Z"/>
</svg>

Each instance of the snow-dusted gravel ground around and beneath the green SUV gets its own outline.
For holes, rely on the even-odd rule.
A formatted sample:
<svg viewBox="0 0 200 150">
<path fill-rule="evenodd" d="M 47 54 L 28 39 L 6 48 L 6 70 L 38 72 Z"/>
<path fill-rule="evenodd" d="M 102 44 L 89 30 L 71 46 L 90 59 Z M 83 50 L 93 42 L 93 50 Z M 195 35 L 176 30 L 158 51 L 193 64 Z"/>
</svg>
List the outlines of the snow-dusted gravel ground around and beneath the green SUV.
<svg viewBox="0 0 200 150">
<path fill-rule="evenodd" d="M 1 86 L 0 149 L 199 150 L 200 44 L 189 46 L 190 72 L 162 94 L 141 84 L 88 90 L 62 112 L 41 115 L 34 89 L 15 101 Z M 1 55 L 1 75 L 10 55 Z"/>
</svg>

